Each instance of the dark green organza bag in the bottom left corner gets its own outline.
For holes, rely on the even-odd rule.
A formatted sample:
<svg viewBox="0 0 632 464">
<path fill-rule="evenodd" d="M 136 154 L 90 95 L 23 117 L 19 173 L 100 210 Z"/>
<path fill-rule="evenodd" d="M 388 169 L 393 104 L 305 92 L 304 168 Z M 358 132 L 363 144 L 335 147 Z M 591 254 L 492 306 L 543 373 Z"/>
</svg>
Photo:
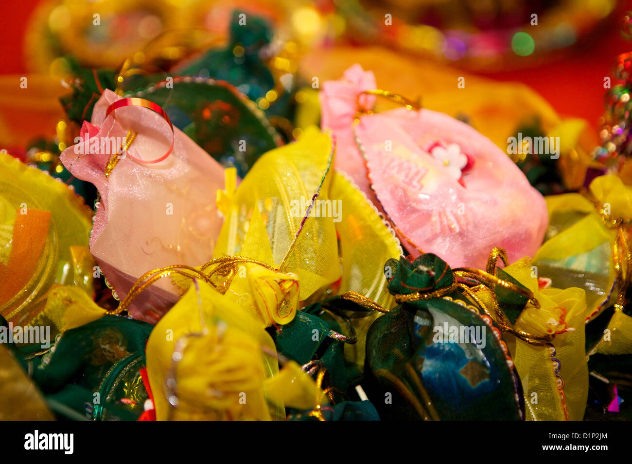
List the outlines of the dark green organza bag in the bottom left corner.
<svg viewBox="0 0 632 464">
<path fill-rule="evenodd" d="M 153 326 L 103 316 L 64 331 L 43 354 L 13 347 L 58 419 L 137 420 L 149 398 L 142 381 Z"/>
</svg>

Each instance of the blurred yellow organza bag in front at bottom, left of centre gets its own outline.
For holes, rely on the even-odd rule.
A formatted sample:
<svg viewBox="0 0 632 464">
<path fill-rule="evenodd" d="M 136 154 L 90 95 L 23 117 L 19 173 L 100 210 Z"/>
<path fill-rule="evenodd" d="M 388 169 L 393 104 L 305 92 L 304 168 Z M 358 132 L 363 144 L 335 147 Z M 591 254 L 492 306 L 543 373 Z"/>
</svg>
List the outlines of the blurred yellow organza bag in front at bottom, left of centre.
<svg viewBox="0 0 632 464">
<path fill-rule="evenodd" d="M 284 404 L 316 407 L 313 379 L 298 366 L 279 372 L 275 354 L 251 312 L 194 283 L 147 342 L 157 420 L 284 419 Z"/>
</svg>

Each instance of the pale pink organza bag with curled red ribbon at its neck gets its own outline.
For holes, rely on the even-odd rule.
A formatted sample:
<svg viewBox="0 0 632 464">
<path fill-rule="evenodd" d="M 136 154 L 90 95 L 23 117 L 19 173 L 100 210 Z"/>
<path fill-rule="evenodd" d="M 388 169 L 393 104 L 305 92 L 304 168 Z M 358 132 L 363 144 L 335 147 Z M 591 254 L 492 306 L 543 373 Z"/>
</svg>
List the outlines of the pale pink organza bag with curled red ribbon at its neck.
<svg viewBox="0 0 632 464">
<path fill-rule="evenodd" d="M 110 108 L 119 100 L 130 105 Z M 123 100 L 106 90 L 92 124 L 84 122 L 79 143 L 61 155 L 75 177 L 99 190 L 90 251 L 121 300 L 147 271 L 212 259 L 222 225 L 216 193 L 224 189 L 224 169 L 179 129 L 172 133 L 164 114 L 134 105 L 138 102 L 147 100 Z M 128 311 L 155 323 L 178 295 L 161 279 Z"/>
</svg>

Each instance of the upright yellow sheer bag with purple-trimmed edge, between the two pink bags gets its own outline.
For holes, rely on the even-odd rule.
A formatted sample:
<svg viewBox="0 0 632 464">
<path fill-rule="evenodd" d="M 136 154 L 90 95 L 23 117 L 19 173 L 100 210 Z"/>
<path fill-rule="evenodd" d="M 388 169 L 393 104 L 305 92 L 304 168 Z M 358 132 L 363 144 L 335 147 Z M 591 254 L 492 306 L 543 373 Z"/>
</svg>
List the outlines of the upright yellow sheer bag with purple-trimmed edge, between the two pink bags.
<svg viewBox="0 0 632 464">
<path fill-rule="evenodd" d="M 298 234 L 305 212 L 301 206 L 311 203 L 321 184 L 318 199 L 331 205 L 334 173 L 327 166 L 333 150 L 331 138 L 312 129 L 295 143 L 265 153 L 239 188 L 226 192 L 231 207 L 222 211 L 226 218 L 214 257 L 248 256 L 293 273 L 301 300 L 335 282 L 340 266 L 332 218 L 308 217 Z"/>
</svg>

